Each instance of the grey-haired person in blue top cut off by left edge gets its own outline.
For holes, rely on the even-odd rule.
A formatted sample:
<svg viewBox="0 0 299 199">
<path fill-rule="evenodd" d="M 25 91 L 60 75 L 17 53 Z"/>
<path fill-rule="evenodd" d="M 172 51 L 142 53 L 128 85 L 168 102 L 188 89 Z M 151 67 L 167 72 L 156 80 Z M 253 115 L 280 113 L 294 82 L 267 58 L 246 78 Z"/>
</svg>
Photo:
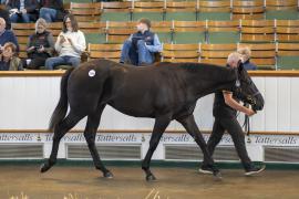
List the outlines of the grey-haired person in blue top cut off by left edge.
<svg viewBox="0 0 299 199">
<path fill-rule="evenodd" d="M 19 44 L 14 33 L 11 30 L 6 30 L 6 20 L 0 18 L 0 49 L 7 43 L 12 42 L 17 46 L 17 52 L 19 52 Z"/>
</svg>

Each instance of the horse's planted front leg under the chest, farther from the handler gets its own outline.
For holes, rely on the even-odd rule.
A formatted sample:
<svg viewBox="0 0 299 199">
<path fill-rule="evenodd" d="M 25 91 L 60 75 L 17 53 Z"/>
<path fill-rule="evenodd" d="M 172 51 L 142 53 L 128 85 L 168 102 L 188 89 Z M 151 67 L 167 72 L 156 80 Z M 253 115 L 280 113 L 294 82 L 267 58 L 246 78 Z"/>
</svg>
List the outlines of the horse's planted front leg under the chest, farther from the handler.
<svg viewBox="0 0 299 199">
<path fill-rule="evenodd" d="M 146 175 L 145 179 L 147 181 L 156 179 L 155 176 L 150 170 L 150 164 L 151 164 L 152 156 L 157 148 L 159 139 L 169 123 L 171 123 L 169 116 L 157 117 L 155 121 L 155 126 L 154 126 L 153 134 L 150 140 L 150 148 L 142 164 L 142 169 L 145 171 L 145 175 Z"/>
</svg>

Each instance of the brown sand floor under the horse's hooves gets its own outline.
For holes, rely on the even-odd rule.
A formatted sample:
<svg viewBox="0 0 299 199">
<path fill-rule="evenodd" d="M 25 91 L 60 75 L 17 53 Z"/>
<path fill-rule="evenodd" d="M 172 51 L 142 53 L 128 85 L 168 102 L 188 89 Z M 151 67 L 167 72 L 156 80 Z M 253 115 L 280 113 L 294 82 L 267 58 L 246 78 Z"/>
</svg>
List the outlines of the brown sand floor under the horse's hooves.
<svg viewBox="0 0 299 199">
<path fill-rule="evenodd" d="M 47 174 L 39 172 L 39 165 L 0 166 L 0 199 L 299 198 L 299 170 L 245 177 L 241 169 L 221 169 L 219 181 L 195 168 L 153 167 L 158 180 L 146 182 L 140 167 L 109 168 L 113 179 L 92 166 L 54 166 Z"/>
</svg>

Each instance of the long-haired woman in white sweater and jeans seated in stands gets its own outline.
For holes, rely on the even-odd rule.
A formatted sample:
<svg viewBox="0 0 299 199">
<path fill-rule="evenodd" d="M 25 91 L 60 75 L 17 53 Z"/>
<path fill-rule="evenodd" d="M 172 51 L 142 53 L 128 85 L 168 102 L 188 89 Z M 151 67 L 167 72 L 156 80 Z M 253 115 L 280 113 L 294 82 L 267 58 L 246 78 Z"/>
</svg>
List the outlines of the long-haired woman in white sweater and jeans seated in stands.
<svg viewBox="0 0 299 199">
<path fill-rule="evenodd" d="M 45 61 L 45 67 L 53 70 L 58 65 L 72 65 L 78 67 L 82 52 L 86 49 L 85 36 L 78 28 L 78 22 L 73 14 L 65 15 L 63 20 L 63 30 L 59 34 L 55 51 L 56 57 L 49 57 Z"/>
</svg>

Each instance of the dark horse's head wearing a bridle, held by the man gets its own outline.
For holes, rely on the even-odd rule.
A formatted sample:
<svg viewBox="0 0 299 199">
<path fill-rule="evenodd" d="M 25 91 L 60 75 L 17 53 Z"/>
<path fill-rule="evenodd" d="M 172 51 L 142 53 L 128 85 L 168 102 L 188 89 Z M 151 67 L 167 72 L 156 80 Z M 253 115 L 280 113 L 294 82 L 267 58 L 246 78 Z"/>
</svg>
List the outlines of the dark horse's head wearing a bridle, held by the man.
<svg viewBox="0 0 299 199">
<path fill-rule="evenodd" d="M 264 97 L 259 93 L 247 71 L 244 69 L 243 64 L 239 64 L 239 66 L 235 69 L 235 73 L 237 76 L 235 84 L 237 98 L 250 104 L 255 112 L 261 111 L 264 108 Z"/>
</svg>

